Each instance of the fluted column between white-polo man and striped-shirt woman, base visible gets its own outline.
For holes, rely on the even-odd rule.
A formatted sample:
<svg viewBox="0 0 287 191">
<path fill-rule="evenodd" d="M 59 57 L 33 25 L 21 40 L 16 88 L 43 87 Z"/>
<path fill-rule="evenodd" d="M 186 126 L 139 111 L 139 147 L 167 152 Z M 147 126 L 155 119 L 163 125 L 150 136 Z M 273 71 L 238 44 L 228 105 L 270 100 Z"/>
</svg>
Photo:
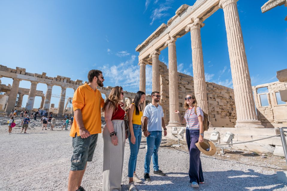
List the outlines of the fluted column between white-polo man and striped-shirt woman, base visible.
<svg viewBox="0 0 287 191">
<path fill-rule="evenodd" d="M 176 47 L 175 37 L 165 42 L 168 45 L 168 81 L 169 81 L 169 122 L 168 126 L 179 126 L 177 114 L 175 110 L 179 109 L 178 102 L 178 79 L 177 79 L 177 61 L 176 61 Z"/>
</svg>

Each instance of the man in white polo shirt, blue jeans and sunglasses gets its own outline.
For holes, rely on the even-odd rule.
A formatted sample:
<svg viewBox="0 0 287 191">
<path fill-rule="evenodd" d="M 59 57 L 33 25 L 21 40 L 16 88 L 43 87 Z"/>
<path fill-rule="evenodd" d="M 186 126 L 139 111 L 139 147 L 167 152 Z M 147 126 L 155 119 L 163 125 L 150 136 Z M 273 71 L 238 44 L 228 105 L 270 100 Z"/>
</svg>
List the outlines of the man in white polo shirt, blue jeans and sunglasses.
<svg viewBox="0 0 287 191">
<path fill-rule="evenodd" d="M 163 135 L 167 135 L 163 120 L 163 108 L 158 104 L 160 101 L 160 93 L 151 93 L 151 103 L 145 107 L 144 111 L 144 127 L 143 133 L 147 140 L 147 153 L 145 154 L 145 172 L 144 178 L 146 181 L 151 181 L 149 176 L 151 156 L 153 156 L 154 174 L 165 176 L 165 173 L 159 169 L 158 166 L 158 149 L 160 147 L 162 131 Z M 163 130 L 162 130 L 163 127 Z"/>
</svg>

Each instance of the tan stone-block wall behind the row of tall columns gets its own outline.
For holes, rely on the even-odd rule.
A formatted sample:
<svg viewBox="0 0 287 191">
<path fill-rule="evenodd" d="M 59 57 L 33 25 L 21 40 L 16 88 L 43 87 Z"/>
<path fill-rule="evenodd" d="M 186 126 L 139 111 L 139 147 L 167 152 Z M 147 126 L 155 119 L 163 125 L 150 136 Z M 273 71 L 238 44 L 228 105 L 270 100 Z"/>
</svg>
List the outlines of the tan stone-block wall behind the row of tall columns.
<svg viewBox="0 0 287 191">
<path fill-rule="evenodd" d="M 184 115 L 184 98 L 187 94 L 194 94 L 193 77 L 177 73 L 178 76 L 178 98 L 179 110 Z M 236 121 L 236 111 L 233 89 L 215 83 L 206 82 L 208 114 L 211 122 L 210 127 L 234 127 Z M 169 119 L 169 90 L 168 90 L 168 69 L 160 63 L 160 104 L 165 114 L 165 123 Z"/>
</svg>

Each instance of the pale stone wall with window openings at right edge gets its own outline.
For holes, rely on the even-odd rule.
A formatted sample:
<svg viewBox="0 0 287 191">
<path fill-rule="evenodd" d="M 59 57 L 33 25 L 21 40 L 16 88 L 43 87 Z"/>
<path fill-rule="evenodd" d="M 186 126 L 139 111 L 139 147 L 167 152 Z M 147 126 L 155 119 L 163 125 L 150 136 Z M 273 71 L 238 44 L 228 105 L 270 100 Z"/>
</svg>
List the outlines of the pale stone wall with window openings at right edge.
<svg viewBox="0 0 287 191">
<path fill-rule="evenodd" d="M 267 87 L 268 92 L 258 93 L 259 88 Z M 272 82 L 253 86 L 254 101 L 256 104 L 258 120 L 265 128 L 286 127 L 287 126 L 287 104 L 278 104 L 276 93 L 287 89 L 287 82 Z M 262 106 L 260 95 L 267 96 L 268 105 Z"/>
</svg>

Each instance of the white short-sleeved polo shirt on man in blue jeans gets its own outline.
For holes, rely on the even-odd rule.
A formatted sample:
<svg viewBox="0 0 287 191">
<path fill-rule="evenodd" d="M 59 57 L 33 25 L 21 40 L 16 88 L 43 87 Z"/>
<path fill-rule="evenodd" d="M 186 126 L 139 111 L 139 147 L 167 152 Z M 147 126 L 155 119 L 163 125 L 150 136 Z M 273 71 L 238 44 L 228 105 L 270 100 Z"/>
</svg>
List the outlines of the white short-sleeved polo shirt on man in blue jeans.
<svg viewBox="0 0 287 191">
<path fill-rule="evenodd" d="M 153 104 L 145 106 L 144 117 L 148 118 L 148 131 L 163 131 L 161 118 L 163 117 L 163 108 L 157 104 L 155 107 Z"/>
</svg>

